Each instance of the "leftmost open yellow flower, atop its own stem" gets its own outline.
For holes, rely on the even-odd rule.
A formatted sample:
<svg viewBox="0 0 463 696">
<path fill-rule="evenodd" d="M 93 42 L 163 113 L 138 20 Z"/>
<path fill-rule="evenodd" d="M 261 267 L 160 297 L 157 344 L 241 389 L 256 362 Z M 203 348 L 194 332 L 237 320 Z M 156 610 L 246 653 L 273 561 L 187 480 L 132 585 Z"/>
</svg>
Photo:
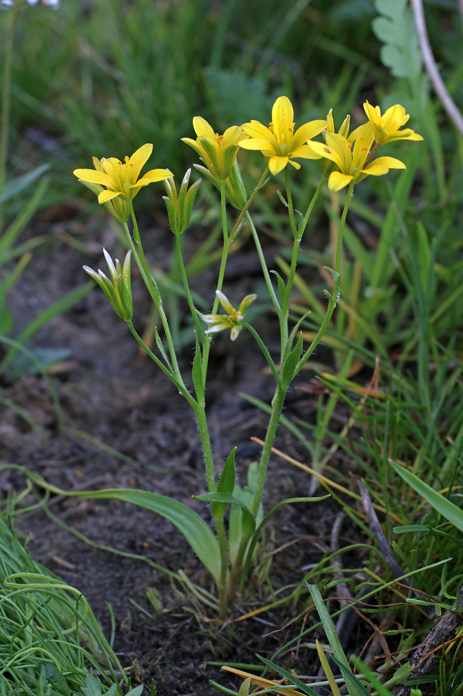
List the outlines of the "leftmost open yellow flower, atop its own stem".
<svg viewBox="0 0 463 696">
<path fill-rule="evenodd" d="M 168 169 L 152 169 L 138 179 L 143 165 L 151 155 L 153 145 L 142 145 L 131 157 L 120 159 L 93 157 L 95 169 L 75 169 L 74 174 L 83 184 L 97 193 L 98 203 L 106 205 L 109 212 L 121 222 L 127 222 L 130 216 L 130 203 L 141 187 L 152 182 L 170 179 L 173 176 Z M 106 187 L 106 188 L 104 188 Z"/>
</svg>

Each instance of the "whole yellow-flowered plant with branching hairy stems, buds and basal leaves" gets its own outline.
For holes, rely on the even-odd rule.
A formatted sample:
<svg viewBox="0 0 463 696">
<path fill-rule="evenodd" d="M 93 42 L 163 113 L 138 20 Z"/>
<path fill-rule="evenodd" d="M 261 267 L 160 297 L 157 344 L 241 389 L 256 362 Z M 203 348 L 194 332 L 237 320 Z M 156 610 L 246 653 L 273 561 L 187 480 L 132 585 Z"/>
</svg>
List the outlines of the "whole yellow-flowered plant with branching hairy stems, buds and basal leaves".
<svg viewBox="0 0 463 696">
<path fill-rule="evenodd" d="M 213 534 L 208 525 L 193 510 L 176 500 L 157 493 L 113 489 L 93 491 L 92 493 L 85 493 L 85 495 L 129 500 L 131 503 L 152 509 L 176 525 L 217 583 L 220 617 L 222 618 L 225 618 L 227 615 L 228 599 L 233 600 L 236 592 L 239 592 L 243 587 L 252 554 L 263 525 L 270 514 L 277 509 L 274 508 L 266 516 L 263 515 L 261 499 L 266 480 L 268 460 L 282 413 L 286 391 L 323 338 L 341 294 L 341 278 L 339 275 L 341 245 L 352 191 L 355 184 L 361 182 L 368 175 L 382 176 L 387 174 L 391 168 L 405 168 L 403 162 L 393 159 L 393 157 L 375 158 L 376 152 L 382 144 L 395 140 L 422 140 L 421 136 L 414 133 L 412 129 L 401 130 L 401 127 L 405 125 L 409 118 L 405 114 L 403 106 L 392 106 L 384 115 L 381 114 L 379 106 L 373 108 L 368 102 L 364 104 L 364 109 L 368 122 L 355 129 L 350 135 L 350 117 L 348 116 L 344 120 L 341 129 L 336 133 L 334 132 L 331 111 L 328 113 L 326 120 L 304 123 L 295 130 L 293 106 L 287 97 L 279 97 L 273 105 L 272 122 L 268 127 L 262 125 L 259 121 L 252 120 L 250 123 L 243 123 L 241 127 L 229 127 L 223 135 L 218 135 L 204 118 L 200 116 L 193 118 L 193 128 L 197 138 L 195 140 L 182 138 L 182 140 L 187 145 L 190 145 L 202 159 L 203 164 L 195 165 L 197 170 L 209 178 L 220 191 L 223 226 L 223 251 L 217 280 L 216 297 L 211 313 L 207 315 L 201 314 L 195 308 L 195 303 L 188 287 L 188 278 L 186 277 L 180 244 L 180 235 L 185 232 L 190 223 L 193 203 L 200 186 L 200 180 L 190 186 L 190 170 L 188 170 L 181 182 L 179 191 L 177 191 L 177 187 L 174 184 L 174 175 L 168 169 L 153 169 L 140 177 L 141 170 L 152 152 L 153 146 L 149 144 L 143 145 L 131 157 L 126 157 L 124 162 L 115 157 L 101 160 L 94 157 L 93 164 L 95 169 L 76 169 L 74 171 L 76 177 L 79 177 L 83 184 L 97 194 L 98 202 L 103 204 L 108 209 L 108 212 L 124 227 L 130 248 L 124 263 L 121 264 L 118 260 L 113 262 L 106 250 L 104 250 L 109 268 L 109 277 L 102 271 L 95 272 L 88 267 L 84 268 L 92 278 L 95 278 L 117 315 L 127 322 L 138 343 L 174 383 L 179 393 L 188 401 L 195 413 L 204 452 L 208 493 L 193 497 L 197 500 L 206 500 L 211 503 L 216 534 Z M 314 141 L 314 137 L 320 134 L 323 134 L 324 142 Z M 257 183 L 249 197 L 243 186 L 240 169 L 236 161 L 236 155 L 240 148 L 260 150 L 266 162 L 261 180 Z M 320 173 L 322 178 L 304 216 L 295 211 L 291 196 L 291 177 L 288 165 L 290 164 L 295 170 L 300 169 L 300 164 L 295 161 L 297 159 L 321 160 Z M 282 278 L 276 271 L 269 271 L 262 253 L 257 230 L 250 215 L 250 207 L 258 191 L 265 186 L 270 179 L 270 175 L 275 175 L 280 171 L 284 171 L 286 199 L 283 196 L 280 196 L 280 198 L 282 198 L 287 208 L 289 225 L 294 238 L 291 266 L 286 278 Z M 339 191 L 344 187 L 348 187 L 348 194 L 339 224 L 335 267 L 334 269 L 327 269 L 333 276 L 333 287 L 331 292 L 325 290 L 328 301 L 325 319 L 311 345 L 304 347 L 302 345 L 302 333 L 298 335 L 298 329 L 304 317 L 290 330 L 289 300 L 302 235 L 304 235 L 309 216 L 326 180 L 328 180 L 330 191 Z M 176 239 L 179 268 L 184 282 L 186 297 L 188 298 L 190 312 L 196 326 L 196 349 L 192 371 L 193 393 L 187 388 L 179 370 L 169 322 L 163 310 L 161 293 L 149 272 L 145 254 L 143 253 L 142 237 L 133 209 L 133 199 L 140 191 L 140 188 L 159 181 L 164 182 L 166 196 L 163 198 L 168 210 L 170 228 Z M 227 202 L 240 211 L 232 230 L 229 230 L 227 227 L 227 215 L 225 212 Z M 133 223 L 133 232 L 131 232 L 127 224 L 129 218 L 131 218 Z M 227 299 L 226 288 L 223 287 L 229 245 L 238 235 L 244 223 L 247 223 L 252 231 L 261 262 L 263 277 L 266 280 L 268 292 L 279 320 L 281 348 L 277 361 L 274 361 L 273 357 L 270 356 L 257 331 L 245 320 L 247 309 L 256 299 L 256 295 L 250 294 L 245 296 L 236 309 Z M 145 345 L 133 328 L 133 303 L 130 283 L 131 258 L 135 260 L 140 269 L 140 274 L 161 317 L 164 340 L 161 340 L 159 334 L 156 333 L 156 345 L 159 351 L 157 355 Z M 225 312 L 219 312 L 219 305 Z M 234 341 L 243 329 L 250 331 L 258 343 L 263 357 L 270 366 L 270 370 L 275 378 L 275 395 L 272 400 L 272 410 L 261 459 L 259 464 L 255 466 L 255 469 L 251 471 L 247 487 L 241 488 L 236 484 L 235 480 L 235 450 L 229 454 L 216 484 L 216 466 L 213 460 L 211 439 L 206 419 L 204 390 L 213 334 L 217 331 L 229 330 L 230 338 Z M 218 463 L 216 462 L 216 464 Z M 283 500 L 279 505 L 295 502 L 295 500 L 307 502 L 322 499 L 297 498 Z M 224 516 L 228 507 L 230 507 L 230 511 L 229 535 L 227 539 Z"/>
</svg>

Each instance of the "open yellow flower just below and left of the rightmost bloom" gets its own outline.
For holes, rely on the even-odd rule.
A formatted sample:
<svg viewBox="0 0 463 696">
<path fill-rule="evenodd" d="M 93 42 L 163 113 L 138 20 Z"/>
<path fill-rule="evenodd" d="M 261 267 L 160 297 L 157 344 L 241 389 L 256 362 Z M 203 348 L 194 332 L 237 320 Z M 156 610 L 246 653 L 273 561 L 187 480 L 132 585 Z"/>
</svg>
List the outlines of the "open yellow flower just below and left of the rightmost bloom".
<svg viewBox="0 0 463 696">
<path fill-rule="evenodd" d="M 389 169 L 405 169 L 405 164 L 394 157 L 377 157 L 365 164 L 373 139 L 371 126 L 366 123 L 350 134 L 349 139 L 339 133 L 327 133 L 325 145 L 311 143 L 311 147 L 319 153 L 320 157 L 331 159 L 340 170 L 330 174 L 328 179 L 330 191 L 339 191 L 352 181 L 357 184 L 368 175 L 382 176 L 387 174 Z"/>
</svg>

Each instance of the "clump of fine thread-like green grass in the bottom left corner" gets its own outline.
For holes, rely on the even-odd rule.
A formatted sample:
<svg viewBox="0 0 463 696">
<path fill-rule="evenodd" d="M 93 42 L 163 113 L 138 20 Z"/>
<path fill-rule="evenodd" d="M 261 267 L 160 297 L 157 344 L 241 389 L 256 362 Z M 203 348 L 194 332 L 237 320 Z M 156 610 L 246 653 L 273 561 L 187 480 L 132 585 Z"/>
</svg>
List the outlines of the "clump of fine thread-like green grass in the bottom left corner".
<svg viewBox="0 0 463 696">
<path fill-rule="evenodd" d="M 67 696 L 89 674 L 106 688 L 127 683 L 85 597 L 33 561 L 0 520 L 0 693 Z"/>
</svg>

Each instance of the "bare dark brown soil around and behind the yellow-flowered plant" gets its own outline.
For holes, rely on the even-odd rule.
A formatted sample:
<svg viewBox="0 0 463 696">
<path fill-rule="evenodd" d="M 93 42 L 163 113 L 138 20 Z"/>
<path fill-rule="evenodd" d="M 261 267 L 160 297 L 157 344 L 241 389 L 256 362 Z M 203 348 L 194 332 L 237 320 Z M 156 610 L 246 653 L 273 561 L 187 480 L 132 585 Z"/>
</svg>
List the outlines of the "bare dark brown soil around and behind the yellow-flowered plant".
<svg viewBox="0 0 463 696">
<path fill-rule="evenodd" d="M 50 241 L 47 248 L 35 255 L 8 298 L 16 333 L 51 301 L 86 283 L 88 277 L 82 270 L 83 264 L 104 269 L 102 246 L 111 255 L 122 258 L 111 222 L 103 216 L 84 225 L 77 212 L 68 211 L 64 222 L 59 215 L 58 221 L 44 215 L 26 233 L 27 237 L 46 232 Z M 173 241 L 170 231 L 155 221 L 150 221 L 145 230 L 148 258 L 155 267 L 167 271 Z M 188 258 L 204 232 L 190 230 L 186 234 L 190 235 L 186 241 Z M 75 248 L 75 242 L 85 245 L 86 253 L 82 248 Z M 270 244 L 266 253 L 270 259 L 274 255 Z M 217 267 L 213 267 L 195 278 L 193 287 L 212 301 L 216 276 Z M 135 269 L 132 282 L 134 324 L 143 331 L 149 302 Z M 257 284 L 261 284 L 257 255 L 252 244 L 247 244 L 231 259 L 224 290 L 232 301 L 239 302 Z M 275 319 L 261 315 L 254 325 L 270 352 L 277 355 L 279 338 Z M 44 379 L 35 374 L 10 379 L 7 374 L 0 383 L 0 394 L 26 409 L 47 434 L 48 442 L 42 443 L 17 413 L 2 406 L 0 458 L 4 462 L 22 464 L 67 490 L 133 487 L 163 493 L 191 505 L 209 520 L 208 507 L 191 499 L 193 494 L 206 490 L 193 413 L 156 365 L 140 358 L 138 345 L 126 324 L 115 315 L 96 285 L 78 305 L 44 326 L 29 347 L 68 351 L 67 358 L 53 374 L 65 415 L 67 438 L 59 434 L 56 412 Z M 323 348 L 320 354 L 323 355 Z M 192 360 L 193 345 L 179 354 L 182 374 L 190 373 Z M 273 377 L 264 367 L 259 348 L 245 331 L 234 343 L 226 333 L 215 338 L 206 389 L 213 451 L 219 469 L 232 448 L 238 448 L 236 463 L 241 481 L 245 481 L 250 462 L 259 457 L 259 446 L 250 438 L 264 436 L 266 416 L 238 392 L 270 402 Z M 308 379 L 300 378 L 300 383 Z M 312 420 L 315 407 L 312 395 L 293 388 L 285 413 L 290 418 Z M 138 466 L 104 452 L 79 432 L 135 459 Z M 275 444 L 284 452 L 309 461 L 307 450 L 282 427 Z M 307 496 L 309 484 L 307 474 L 273 457 L 264 496 L 265 509 L 268 511 L 282 498 Z M 3 499 L 23 486 L 24 477 L 19 473 L 13 470 L 0 473 Z M 31 502 L 31 497 L 24 502 Z M 183 569 L 192 582 L 213 592 L 211 578 L 184 537 L 160 516 L 108 500 L 52 496 L 48 505 L 63 523 L 95 544 L 144 555 L 172 571 Z M 271 554 L 266 564 L 274 592 L 299 583 L 304 577 L 303 568 L 320 560 L 323 551 L 330 548 L 337 514 L 339 507 L 330 501 L 288 505 L 275 514 L 268 524 L 264 546 L 265 553 Z M 219 629 L 213 622 L 213 611 L 200 606 L 188 594 L 175 594 L 165 573 L 143 560 L 89 546 L 51 521 L 42 510 L 18 519 L 17 530 L 31 534 L 29 548 L 37 560 L 85 594 L 106 635 L 111 631 L 107 608 L 107 603 L 111 603 L 116 628 L 114 648 L 124 666 L 133 665 L 133 686 L 138 680 L 149 686 L 154 678 L 159 696 L 218 693 L 209 686 L 209 679 L 237 690 L 241 680 L 208 663 L 256 663 L 255 654 L 272 656 L 280 645 L 298 635 L 301 621 L 284 631 L 266 634 L 282 628 L 309 603 L 306 595 L 297 607 L 285 604 L 255 619 L 232 622 Z M 356 532 L 345 523 L 341 533 L 349 539 Z M 341 541 L 341 546 L 347 543 Z M 159 596 L 158 610 L 147 598 L 150 588 Z M 277 596 L 284 594 L 285 590 Z M 263 571 L 254 573 L 245 596 L 232 607 L 231 618 L 236 619 L 270 601 L 272 590 Z M 291 654 L 286 658 L 288 663 L 292 660 L 301 674 L 314 673 L 312 649 L 299 647 L 293 658 Z"/>
</svg>

